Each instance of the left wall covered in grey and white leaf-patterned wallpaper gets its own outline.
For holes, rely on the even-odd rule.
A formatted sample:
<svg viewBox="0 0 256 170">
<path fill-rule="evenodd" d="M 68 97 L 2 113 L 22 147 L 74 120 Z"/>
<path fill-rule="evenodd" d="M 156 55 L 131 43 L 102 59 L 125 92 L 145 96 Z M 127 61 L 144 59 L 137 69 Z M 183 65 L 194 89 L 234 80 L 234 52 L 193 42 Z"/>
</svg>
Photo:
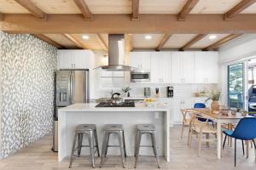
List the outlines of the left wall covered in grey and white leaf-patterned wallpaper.
<svg viewBox="0 0 256 170">
<path fill-rule="evenodd" d="M 0 158 L 52 131 L 57 49 L 0 31 Z"/>
</svg>

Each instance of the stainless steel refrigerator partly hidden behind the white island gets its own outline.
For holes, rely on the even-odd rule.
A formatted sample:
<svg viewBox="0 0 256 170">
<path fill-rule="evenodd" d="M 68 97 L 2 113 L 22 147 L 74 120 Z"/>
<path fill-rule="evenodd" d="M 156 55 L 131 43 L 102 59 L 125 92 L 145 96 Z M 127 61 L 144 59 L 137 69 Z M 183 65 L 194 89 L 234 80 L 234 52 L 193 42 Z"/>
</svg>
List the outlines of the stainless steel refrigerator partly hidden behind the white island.
<svg viewBox="0 0 256 170">
<path fill-rule="evenodd" d="M 89 103 L 89 70 L 61 70 L 55 73 L 55 123 L 53 150 L 58 150 L 58 109 L 75 103 Z"/>
</svg>

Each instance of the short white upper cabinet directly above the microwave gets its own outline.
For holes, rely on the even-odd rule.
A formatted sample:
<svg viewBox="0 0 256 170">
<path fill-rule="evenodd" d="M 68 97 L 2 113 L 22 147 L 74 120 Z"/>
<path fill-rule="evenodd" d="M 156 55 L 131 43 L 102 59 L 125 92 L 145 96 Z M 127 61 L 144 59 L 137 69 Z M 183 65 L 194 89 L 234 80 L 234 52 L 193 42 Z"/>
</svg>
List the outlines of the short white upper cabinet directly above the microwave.
<svg viewBox="0 0 256 170">
<path fill-rule="evenodd" d="M 131 52 L 130 65 L 139 70 L 150 71 L 151 53 L 150 52 Z"/>
</svg>

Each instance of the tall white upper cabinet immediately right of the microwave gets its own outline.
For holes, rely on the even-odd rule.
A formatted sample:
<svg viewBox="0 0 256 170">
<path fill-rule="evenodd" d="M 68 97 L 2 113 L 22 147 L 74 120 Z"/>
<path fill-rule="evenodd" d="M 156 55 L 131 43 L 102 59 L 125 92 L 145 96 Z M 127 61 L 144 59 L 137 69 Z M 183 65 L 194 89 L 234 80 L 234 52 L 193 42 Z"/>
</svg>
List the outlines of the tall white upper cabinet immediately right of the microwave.
<svg viewBox="0 0 256 170">
<path fill-rule="evenodd" d="M 171 82 L 171 52 L 151 53 L 151 82 Z"/>
</svg>

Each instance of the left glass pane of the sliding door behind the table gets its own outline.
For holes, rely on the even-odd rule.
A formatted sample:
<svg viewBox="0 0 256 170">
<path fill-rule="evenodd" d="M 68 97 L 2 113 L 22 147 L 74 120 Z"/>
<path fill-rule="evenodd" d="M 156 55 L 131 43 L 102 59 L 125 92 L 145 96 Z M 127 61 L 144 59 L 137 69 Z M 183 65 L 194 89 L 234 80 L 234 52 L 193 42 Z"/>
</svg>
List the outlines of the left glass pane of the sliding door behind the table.
<svg viewBox="0 0 256 170">
<path fill-rule="evenodd" d="M 228 66 L 228 100 L 230 107 L 244 108 L 242 63 Z"/>
</svg>

